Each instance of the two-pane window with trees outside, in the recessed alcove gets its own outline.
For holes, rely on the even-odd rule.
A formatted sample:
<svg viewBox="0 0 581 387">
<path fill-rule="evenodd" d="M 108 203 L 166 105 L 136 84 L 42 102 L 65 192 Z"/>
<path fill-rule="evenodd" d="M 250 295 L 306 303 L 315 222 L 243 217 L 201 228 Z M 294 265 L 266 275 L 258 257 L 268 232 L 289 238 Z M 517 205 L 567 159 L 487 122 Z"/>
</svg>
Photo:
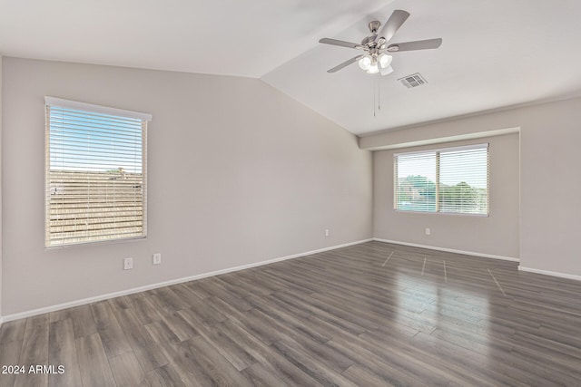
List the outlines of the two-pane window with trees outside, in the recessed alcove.
<svg viewBox="0 0 581 387">
<path fill-rule="evenodd" d="M 395 209 L 488 214 L 488 144 L 394 155 Z"/>
</svg>

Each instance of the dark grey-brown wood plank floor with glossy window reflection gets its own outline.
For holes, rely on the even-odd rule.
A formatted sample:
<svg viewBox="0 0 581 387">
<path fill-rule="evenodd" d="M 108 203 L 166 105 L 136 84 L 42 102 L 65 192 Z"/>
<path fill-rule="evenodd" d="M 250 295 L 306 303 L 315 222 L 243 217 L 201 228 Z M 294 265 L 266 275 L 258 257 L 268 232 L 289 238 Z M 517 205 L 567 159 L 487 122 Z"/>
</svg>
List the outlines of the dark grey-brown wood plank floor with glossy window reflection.
<svg viewBox="0 0 581 387">
<path fill-rule="evenodd" d="M 581 386 L 580 295 L 369 242 L 5 323 L 1 364 L 56 373 L 0 386 Z"/>
</svg>

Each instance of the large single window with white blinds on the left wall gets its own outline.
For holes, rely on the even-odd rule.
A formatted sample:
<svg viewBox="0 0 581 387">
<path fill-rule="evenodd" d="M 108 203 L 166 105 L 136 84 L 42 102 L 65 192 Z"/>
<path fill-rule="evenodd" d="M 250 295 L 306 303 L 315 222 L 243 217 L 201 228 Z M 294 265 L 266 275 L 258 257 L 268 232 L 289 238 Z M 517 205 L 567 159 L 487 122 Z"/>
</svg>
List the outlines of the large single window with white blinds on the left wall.
<svg viewBox="0 0 581 387">
<path fill-rule="evenodd" d="M 149 114 L 45 97 L 45 246 L 145 237 Z"/>
</svg>

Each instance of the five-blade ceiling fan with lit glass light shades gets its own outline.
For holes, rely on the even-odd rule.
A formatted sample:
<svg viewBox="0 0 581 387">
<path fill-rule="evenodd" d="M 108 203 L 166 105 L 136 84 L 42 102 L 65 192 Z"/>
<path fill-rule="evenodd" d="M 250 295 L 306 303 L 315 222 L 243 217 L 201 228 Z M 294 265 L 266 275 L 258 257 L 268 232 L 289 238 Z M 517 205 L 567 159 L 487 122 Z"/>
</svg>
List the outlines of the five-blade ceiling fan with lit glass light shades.
<svg viewBox="0 0 581 387">
<path fill-rule="evenodd" d="M 399 30 L 402 24 L 408 19 L 409 13 L 402 10 L 395 10 L 389 16 L 388 21 L 383 24 L 381 30 L 381 23 L 377 20 L 369 22 L 369 36 L 366 36 L 361 41 L 361 44 L 345 42 L 337 39 L 322 38 L 319 43 L 340 45 L 341 47 L 355 48 L 364 53 L 351 58 L 349 61 L 340 63 L 339 65 L 328 70 L 327 73 L 336 73 L 342 68 L 349 66 L 352 63 L 359 63 L 359 67 L 370 74 L 380 73 L 387 75 L 393 72 L 391 67 L 392 57 L 389 53 L 398 53 L 400 51 L 412 50 L 427 50 L 431 48 L 438 48 L 442 44 L 442 39 L 427 39 L 413 42 L 403 42 L 396 44 L 389 44 L 394 34 Z"/>
</svg>

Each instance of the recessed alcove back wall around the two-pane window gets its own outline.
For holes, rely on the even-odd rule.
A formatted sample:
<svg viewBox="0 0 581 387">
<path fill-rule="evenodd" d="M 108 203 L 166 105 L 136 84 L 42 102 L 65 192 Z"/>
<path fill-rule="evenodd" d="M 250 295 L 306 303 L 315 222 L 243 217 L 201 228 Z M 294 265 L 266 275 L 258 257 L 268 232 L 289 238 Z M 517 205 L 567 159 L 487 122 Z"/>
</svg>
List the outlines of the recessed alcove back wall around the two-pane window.
<svg viewBox="0 0 581 387">
<path fill-rule="evenodd" d="M 489 216 L 395 211 L 394 153 L 488 143 Z M 489 256 L 518 256 L 518 133 L 478 140 L 379 150 L 373 157 L 374 236 Z M 425 233 L 430 228 L 430 235 Z"/>
</svg>

